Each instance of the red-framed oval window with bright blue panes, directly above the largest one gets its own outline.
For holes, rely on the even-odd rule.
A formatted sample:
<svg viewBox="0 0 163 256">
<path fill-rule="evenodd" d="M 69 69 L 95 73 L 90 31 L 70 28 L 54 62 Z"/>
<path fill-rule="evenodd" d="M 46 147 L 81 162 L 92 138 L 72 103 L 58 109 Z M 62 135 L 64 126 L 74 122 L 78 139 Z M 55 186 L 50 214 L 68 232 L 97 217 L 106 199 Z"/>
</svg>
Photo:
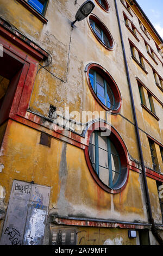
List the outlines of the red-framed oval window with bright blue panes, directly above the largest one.
<svg viewBox="0 0 163 256">
<path fill-rule="evenodd" d="M 96 100 L 111 113 L 118 113 L 121 108 L 121 94 L 117 84 L 109 73 L 98 64 L 87 68 L 89 87 Z"/>
</svg>

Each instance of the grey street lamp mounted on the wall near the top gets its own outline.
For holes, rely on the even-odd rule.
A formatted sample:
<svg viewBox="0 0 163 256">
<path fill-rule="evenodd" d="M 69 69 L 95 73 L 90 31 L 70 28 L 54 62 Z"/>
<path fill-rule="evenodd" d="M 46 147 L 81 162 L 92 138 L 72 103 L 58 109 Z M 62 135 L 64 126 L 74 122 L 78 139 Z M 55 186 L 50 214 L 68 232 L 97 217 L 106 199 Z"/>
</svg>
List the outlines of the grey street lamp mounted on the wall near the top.
<svg viewBox="0 0 163 256">
<path fill-rule="evenodd" d="M 92 12 L 94 8 L 95 4 L 92 0 L 85 1 L 78 9 L 76 14 L 76 20 L 71 22 L 71 27 L 73 27 L 75 22 L 84 20 Z"/>
</svg>

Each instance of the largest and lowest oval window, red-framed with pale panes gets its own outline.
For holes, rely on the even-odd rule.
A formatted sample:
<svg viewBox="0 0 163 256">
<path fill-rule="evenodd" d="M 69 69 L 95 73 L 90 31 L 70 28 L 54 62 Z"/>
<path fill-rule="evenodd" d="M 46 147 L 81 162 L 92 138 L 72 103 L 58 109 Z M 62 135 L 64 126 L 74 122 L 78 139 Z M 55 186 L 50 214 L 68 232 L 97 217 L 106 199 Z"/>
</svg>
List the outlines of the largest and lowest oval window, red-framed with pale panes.
<svg viewBox="0 0 163 256">
<path fill-rule="evenodd" d="M 129 176 L 126 145 L 117 131 L 105 122 L 89 127 L 86 161 L 97 184 L 110 193 L 120 193 Z"/>
</svg>

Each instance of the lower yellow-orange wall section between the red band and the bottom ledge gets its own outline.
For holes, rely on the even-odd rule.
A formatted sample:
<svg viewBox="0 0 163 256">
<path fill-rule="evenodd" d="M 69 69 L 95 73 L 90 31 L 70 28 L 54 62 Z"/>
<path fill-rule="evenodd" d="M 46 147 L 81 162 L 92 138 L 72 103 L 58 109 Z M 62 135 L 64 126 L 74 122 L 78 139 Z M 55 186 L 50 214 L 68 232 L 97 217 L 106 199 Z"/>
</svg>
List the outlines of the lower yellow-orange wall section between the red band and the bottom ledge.
<svg viewBox="0 0 163 256">
<path fill-rule="evenodd" d="M 13 179 L 50 186 L 51 214 L 122 221 L 147 221 L 141 178 L 130 170 L 126 189 L 112 195 L 103 191 L 87 168 L 84 151 L 52 139 L 40 145 L 40 132 L 9 121 L 3 141 L 1 185 L 8 203 Z"/>
</svg>

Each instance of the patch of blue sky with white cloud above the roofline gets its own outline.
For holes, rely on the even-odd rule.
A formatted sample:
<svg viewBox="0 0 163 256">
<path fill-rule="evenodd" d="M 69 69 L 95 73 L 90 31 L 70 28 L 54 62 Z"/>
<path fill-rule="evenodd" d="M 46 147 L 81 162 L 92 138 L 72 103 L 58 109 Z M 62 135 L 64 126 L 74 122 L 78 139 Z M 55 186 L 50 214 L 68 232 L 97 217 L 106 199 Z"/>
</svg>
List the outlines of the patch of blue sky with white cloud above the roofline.
<svg viewBox="0 0 163 256">
<path fill-rule="evenodd" d="M 163 39 L 163 0 L 136 0 Z"/>
</svg>

